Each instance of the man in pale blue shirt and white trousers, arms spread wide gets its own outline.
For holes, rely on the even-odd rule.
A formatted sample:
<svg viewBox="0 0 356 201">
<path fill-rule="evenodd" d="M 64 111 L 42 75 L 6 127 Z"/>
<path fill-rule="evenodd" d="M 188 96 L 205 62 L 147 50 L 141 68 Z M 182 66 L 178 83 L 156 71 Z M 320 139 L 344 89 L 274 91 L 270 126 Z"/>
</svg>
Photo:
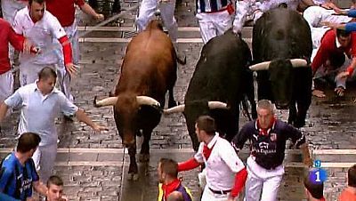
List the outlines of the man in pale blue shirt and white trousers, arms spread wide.
<svg viewBox="0 0 356 201">
<path fill-rule="evenodd" d="M 55 117 L 60 113 L 77 117 L 100 132 L 107 128 L 93 123 L 85 115 L 83 109 L 78 109 L 66 96 L 54 88 L 57 75 L 53 68 L 45 67 L 38 74 L 38 81 L 20 87 L 0 106 L 0 123 L 9 108 L 20 108 L 20 123 L 18 133 L 38 133 L 41 142 L 33 156 L 36 168 L 39 169 L 40 180 L 44 183 L 51 176 L 55 157 L 57 155 L 58 134 L 55 127 Z"/>
</svg>

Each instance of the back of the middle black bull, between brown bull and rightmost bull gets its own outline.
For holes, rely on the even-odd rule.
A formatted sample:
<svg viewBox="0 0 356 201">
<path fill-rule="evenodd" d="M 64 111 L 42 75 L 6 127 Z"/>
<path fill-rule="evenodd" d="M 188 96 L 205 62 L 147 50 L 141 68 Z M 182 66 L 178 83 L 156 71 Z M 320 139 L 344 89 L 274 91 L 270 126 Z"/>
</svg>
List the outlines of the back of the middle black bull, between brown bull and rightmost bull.
<svg viewBox="0 0 356 201">
<path fill-rule="evenodd" d="M 247 44 L 231 29 L 204 45 L 185 102 L 236 102 L 243 71 L 251 60 Z"/>
</svg>

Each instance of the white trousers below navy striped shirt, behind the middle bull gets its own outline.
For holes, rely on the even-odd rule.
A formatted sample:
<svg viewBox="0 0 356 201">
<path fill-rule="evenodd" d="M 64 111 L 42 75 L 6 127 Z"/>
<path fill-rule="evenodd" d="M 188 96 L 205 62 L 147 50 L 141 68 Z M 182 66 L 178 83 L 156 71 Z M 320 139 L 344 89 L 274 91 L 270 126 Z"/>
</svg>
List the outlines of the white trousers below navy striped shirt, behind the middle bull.
<svg viewBox="0 0 356 201">
<path fill-rule="evenodd" d="M 206 13 L 196 15 L 199 23 L 200 34 L 204 44 L 215 36 L 220 36 L 231 28 L 231 15 L 228 11 Z"/>
</svg>

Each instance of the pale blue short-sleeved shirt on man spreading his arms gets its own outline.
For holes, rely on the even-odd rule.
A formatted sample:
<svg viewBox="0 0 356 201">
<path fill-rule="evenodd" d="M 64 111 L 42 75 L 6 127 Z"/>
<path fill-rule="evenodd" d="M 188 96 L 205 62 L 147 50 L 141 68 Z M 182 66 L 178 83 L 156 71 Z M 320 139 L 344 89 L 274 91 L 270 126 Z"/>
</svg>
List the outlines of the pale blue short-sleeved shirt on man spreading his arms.
<svg viewBox="0 0 356 201">
<path fill-rule="evenodd" d="M 20 87 L 4 103 L 12 108 L 20 107 L 18 133 L 37 133 L 41 137 L 40 146 L 57 143 L 54 120 L 60 112 L 66 116 L 73 116 L 77 112 L 77 106 L 61 91 L 54 88 L 49 94 L 43 95 L 36 83 Z"/>
</svg>

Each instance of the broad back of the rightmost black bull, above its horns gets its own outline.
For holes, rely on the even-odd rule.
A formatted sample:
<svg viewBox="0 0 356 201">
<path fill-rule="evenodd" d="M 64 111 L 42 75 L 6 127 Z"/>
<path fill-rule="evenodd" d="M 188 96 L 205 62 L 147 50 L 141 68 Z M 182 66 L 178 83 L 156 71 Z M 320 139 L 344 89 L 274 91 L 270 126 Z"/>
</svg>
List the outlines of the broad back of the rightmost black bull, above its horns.
<svg viewBox="0 0 356 201">
<path fill-rule="evenodd" d="M 308 23 L 298 12 L 284 8 L 263 13 L 255 23 L 252 44 L 255 62 L 312 56 Z"/>
</svg>

